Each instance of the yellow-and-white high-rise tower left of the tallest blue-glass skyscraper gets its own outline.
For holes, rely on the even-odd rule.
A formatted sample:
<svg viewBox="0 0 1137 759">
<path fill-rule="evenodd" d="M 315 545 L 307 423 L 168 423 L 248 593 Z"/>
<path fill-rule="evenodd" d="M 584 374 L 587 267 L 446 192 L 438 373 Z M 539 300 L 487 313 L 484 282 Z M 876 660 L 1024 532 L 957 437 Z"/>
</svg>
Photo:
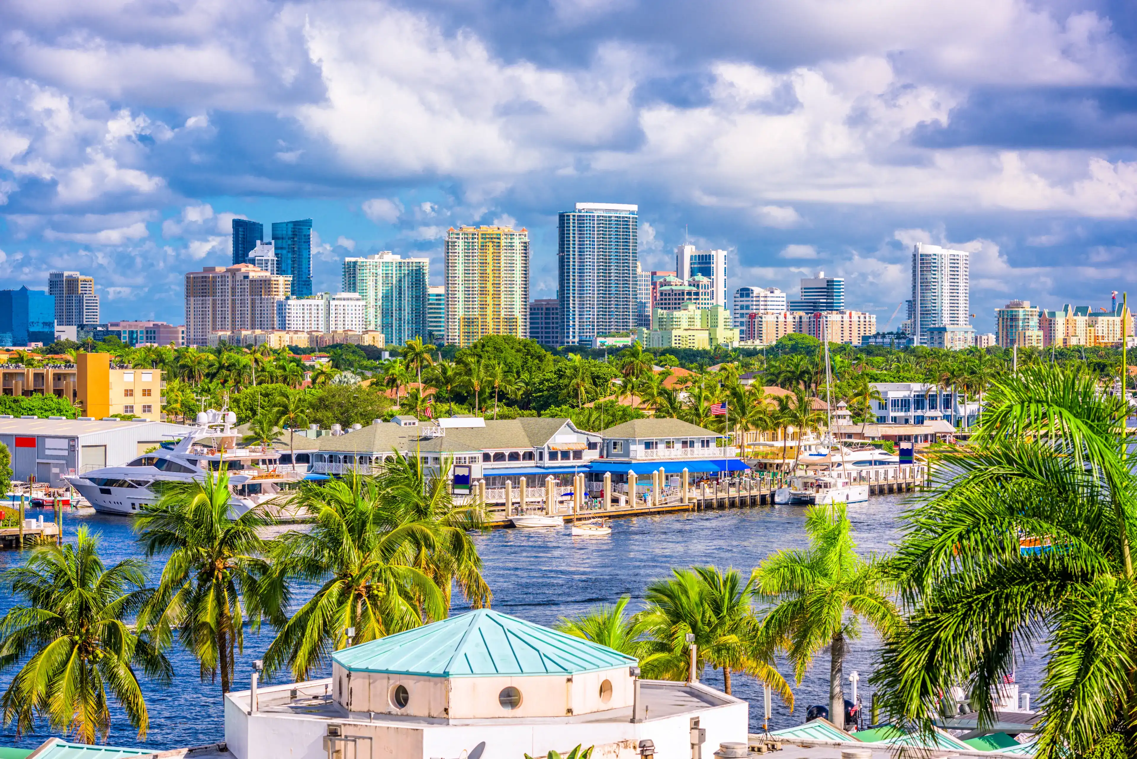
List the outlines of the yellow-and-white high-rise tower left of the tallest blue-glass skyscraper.
<svg viewBox="0 0 1137 759">
<path fill-rule="evenodd" d="M 450 228 L 446 233 L 445 280 L 448 345 L 464 347 L 487 335 L 522 339 L 529 335 L 525 228 Z"/>
</svg>

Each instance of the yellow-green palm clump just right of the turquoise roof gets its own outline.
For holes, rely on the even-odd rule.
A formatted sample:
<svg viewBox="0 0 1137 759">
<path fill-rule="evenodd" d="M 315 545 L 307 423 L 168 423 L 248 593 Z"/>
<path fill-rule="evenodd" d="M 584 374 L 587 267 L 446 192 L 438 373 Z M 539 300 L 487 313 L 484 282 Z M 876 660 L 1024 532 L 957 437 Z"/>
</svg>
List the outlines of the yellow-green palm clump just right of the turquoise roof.
<svg viewBox="0 0 1137 759">
<path fill-rule="evenodd" d="M 715 567 L 674 569 L 672 574 L 672 578 L 648 585 L 648 605 L 639 617 L 648 636 L 645 651 L 649 658 L 644 665 L 648 676 L 690 677 L 687 635 L 692 634 L 696 668 L 721 667 L 728 694 L 731 671 L 741 671 L 770 685 L 792 708 L 794 694 L 771 663 L 772 650 L 758 636 L 760 625 L 750 609 L 753 583 L 744 585 L 738 570 L 722 572 Z"/>
</svg>

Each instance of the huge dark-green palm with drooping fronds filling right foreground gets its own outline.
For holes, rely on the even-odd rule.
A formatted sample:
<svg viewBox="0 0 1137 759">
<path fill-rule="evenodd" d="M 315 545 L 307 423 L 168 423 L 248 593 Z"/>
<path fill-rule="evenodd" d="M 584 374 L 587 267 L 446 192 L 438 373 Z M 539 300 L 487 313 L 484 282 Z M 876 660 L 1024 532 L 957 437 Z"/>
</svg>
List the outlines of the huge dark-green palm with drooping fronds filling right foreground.
<svg viewBox="0 0 1137 759">
<path fill-rule="evenodd" d="M 1047 658 L 1038 757 L 1089 756 L 1118 733 L 1126 756 L 1137 751 L 1126 415 L 1078 369 L 1020 369 L 994 386 L 972 444 L 945 454 L 949 477 L 906 514 L 890 562 L 908 622 L 874 682 L 894 716 L 927 727 L 937 694 L 964 684 L 993 721 L 990 688 L 1019 641 Z"/>
</svg>

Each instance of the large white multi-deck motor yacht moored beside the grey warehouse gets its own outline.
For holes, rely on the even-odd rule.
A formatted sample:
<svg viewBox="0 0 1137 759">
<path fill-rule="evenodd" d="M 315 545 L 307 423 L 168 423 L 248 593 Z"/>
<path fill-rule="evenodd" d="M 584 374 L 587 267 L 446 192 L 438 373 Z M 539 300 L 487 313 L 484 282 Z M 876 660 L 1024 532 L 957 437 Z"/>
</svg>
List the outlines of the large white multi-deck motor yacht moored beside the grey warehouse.
<svg viewBox="0 0 1137 759">
<path fill-rule="evenodd" d="M 105 467 L 66 479 L 96 511 L 108 514 L 136 514 L 147 504 L 157 503 L 155 482 L 205 479 L 207 472 L 222 468 L 229 472 L 230 519 L 252 509 L 269 515 L 285 515 L 281 486 L 304 478 L 305 472 L 280 464 L 280 453 L 271 447 L 239 445 L 232 411 L 204 411 L 197 426 L 181 440 L 164 443 L 123 467 Z"/>
</svg>

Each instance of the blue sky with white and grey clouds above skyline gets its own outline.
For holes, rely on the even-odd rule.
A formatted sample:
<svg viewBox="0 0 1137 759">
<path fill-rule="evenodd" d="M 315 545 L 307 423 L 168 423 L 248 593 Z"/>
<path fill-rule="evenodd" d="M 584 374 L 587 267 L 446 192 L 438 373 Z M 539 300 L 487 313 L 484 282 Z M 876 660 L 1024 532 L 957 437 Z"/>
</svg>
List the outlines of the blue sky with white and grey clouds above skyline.
<svg viewBox="0 0 1137 759">
<path fill-rule="evenodd" d="M 1018 0 L 5 0 L 0 288 L 96 278 L 102 319 L 184 321 L 234 217 L 349 255 L 640 211 L 645 269 L 846 278 L 895 329 L 911 249 L 971 251 L 971 311 L 1137 298 L 1137 7 Z"/>
</svg>

